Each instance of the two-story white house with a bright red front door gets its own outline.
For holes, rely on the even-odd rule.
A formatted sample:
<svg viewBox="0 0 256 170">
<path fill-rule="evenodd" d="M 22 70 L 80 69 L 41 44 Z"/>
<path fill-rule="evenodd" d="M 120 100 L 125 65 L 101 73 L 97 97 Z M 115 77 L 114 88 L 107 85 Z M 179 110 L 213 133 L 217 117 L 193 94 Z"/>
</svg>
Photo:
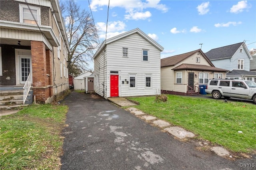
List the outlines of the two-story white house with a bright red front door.
<svg viewBox="0 0 256 170">
<path fill-rule="evenodd" d="M 94 54 L 94 91 L 104 98 L 160 92 L 163 47 L 140 29 L 104 41 Z"/>
</svg>

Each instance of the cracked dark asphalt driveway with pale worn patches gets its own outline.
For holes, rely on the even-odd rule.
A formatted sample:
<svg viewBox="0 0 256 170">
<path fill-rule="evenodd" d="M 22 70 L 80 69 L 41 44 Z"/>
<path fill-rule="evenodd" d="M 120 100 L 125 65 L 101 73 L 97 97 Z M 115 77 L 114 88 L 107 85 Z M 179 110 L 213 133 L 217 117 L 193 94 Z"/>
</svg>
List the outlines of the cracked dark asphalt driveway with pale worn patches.
<svg viewBox="0 0 256 170">
<path fill-rule="evenodd" d="M 73 91 L 69 106 L 62 170 L 238 170 L 255 160 L 227 160 L 196 150 L 101 97 Z M 255 159 L 255 158 L 254 158 Z M 254 161 L 254 162 L 252 162 Z"/>
</svg>

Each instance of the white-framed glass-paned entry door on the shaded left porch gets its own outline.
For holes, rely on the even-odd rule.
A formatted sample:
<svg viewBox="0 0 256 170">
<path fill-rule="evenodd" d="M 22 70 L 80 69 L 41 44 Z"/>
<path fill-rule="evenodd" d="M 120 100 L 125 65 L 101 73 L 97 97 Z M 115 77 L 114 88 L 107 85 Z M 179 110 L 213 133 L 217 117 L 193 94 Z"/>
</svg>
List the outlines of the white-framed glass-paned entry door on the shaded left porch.
<svg viewBox="0 0 256 170">
<path fill-rule="evenodd" d="M 25 84 L 29 73 L 32 74 L 32 62 L 31 56 L 28 55 L 18 55 L 19 59 L 19 79 L 20 84 Z M 30 75 L 32 78 L 32 75 Z"/>
</svg>

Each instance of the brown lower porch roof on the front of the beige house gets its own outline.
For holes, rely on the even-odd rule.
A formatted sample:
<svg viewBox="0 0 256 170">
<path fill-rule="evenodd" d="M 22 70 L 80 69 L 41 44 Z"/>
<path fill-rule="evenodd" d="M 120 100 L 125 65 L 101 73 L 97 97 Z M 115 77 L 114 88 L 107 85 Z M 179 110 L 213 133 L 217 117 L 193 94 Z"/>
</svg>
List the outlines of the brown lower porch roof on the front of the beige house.
<svg viewBox="0 0 256 170">
<path fill-rule="evenodd" d="M 220 69 L 220 68 L 216 68 L 208 65 L 198 65 L 198 64 L 181 64 L 173 68 L 173 70 L 184 70 L 184 69 L 204 70 L 204 71 L 223 71 L 223 72 L 228 71 L 226 69 Z"/>
</svg>

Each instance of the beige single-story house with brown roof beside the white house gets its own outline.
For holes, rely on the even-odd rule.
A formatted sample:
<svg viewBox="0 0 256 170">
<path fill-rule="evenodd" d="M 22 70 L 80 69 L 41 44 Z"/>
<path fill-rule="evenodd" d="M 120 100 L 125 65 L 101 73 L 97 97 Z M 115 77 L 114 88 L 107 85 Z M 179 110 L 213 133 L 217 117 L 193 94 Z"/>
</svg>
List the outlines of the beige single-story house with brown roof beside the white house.
<svg viewBox="0 0 256 170">
<path fill-rule="evenodd" d="M 214 67 L 201 49 L 161 59 L 161 92 L 193 95 L 209 79 L 226 78 L 226 69 Z"/>
</svg>

